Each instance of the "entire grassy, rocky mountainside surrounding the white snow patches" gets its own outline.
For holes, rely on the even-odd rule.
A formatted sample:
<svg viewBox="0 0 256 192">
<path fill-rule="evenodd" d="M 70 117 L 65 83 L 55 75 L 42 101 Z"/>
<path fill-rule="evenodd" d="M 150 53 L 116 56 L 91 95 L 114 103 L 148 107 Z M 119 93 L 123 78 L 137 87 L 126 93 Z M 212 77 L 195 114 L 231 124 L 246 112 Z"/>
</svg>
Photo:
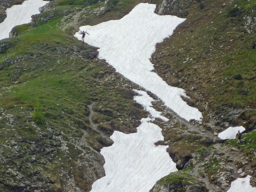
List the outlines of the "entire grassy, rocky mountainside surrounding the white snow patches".
<svg viewBox="0 0 256 192">
<path fill-rule="evenodd" d="M 151 62 L 168 84 L 186 90 L 202 122 L 187 122 L 161 100 L 154 107 L 180 170 L 151 191 L 227 191 L 238 177 L 255 185 L 255 15 L 251 1 L 51 1 L 19 36 L 0 41 L 0 190 L 90 191 L 105 175 L 99 151 L 114 130 L 136 131 L 147 114 L 133 101 L 142 89 L 73 34 L 82 25 L 120 19 L 140 3 L 187 18 L 157 45 Z M 8 3 L 8 1 L 7 1 Z M 0 12 L 4 18 L 4 13 Z M 246 144 L 216 132 L 246 128 Z"/>
</svg>

